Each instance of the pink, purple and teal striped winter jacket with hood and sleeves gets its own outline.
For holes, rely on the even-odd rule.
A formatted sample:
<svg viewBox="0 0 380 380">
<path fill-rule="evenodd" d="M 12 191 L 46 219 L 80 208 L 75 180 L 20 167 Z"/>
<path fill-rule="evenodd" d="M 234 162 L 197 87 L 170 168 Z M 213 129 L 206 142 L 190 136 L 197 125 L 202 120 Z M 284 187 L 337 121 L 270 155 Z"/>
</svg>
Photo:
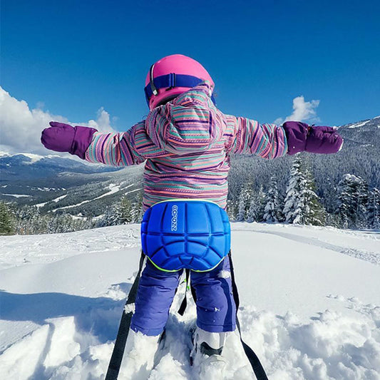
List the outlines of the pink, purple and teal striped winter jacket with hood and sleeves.
<svg viewBox="0 0 380 380">
<path fill-rule="evenodd" d="M 230 153 L 281 157 L 287 138 L 281 126 L 224 115 L 211 91 L 200 83 L 124 133 L 94 133 L 86 160 L 115 166 L 145 161 L 145 210 L 173 198 L 202 198 L 225 208 Z"/>
</svg>

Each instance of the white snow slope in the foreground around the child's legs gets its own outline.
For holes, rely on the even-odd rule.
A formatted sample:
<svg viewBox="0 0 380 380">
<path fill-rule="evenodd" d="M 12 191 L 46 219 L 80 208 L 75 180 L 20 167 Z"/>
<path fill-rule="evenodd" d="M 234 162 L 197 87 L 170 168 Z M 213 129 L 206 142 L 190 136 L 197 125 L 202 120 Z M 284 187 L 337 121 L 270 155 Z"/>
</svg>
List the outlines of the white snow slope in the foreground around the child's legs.
<svg viewBox="0 0 380 380">
<path fill-rule="evenodd" d="M 1 379 L 103 379 L 139 228 L 0 237 Z M 232 223 L 232 255 L 243 338 L 269 379 L 380 379 L 379 233 Z M 205 379 L 188 363 L 195 306 L 176 314 L 183 292 L 155 369 L 122 378 Z M 226 379 L 254 379 L 236 335 L 224 355 Z"/>
</svg>

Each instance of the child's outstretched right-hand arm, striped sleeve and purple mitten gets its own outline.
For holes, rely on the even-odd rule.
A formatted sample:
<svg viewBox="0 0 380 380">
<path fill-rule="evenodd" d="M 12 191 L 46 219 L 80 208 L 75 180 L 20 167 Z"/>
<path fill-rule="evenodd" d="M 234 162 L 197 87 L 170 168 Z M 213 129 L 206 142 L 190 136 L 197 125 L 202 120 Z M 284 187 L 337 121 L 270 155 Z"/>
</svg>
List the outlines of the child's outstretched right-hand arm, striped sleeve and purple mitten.
<svg viewBox="0 0 380 380">
<path fill-rule="evenodd" d="M 277 158 L 302 151 L 337 153 L 343 145 L 337 128 L 311 126 L 299 121 L 287 121 L 281 126 L 260 124 L 256 120 L 235 118 L 232 153 L 256 154 L 262 158 Z"/>
</svg>

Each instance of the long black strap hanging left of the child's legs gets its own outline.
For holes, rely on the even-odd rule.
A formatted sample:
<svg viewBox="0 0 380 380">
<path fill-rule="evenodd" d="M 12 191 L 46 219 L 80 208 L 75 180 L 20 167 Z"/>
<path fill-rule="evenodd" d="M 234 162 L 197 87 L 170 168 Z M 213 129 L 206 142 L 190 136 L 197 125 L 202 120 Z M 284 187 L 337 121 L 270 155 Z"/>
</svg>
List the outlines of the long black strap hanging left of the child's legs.
<svg viewBox="0 0 380 380">
<path fill-rule="evenodd" d="M 133 282 L 132 287 L 130 288 L 127 301 L 125 302 L 125 306 L 135 303 L 138 282 L 140 280 L 141 271 L 143 270 L 145 255 L 141 252 L 140 264 L 138 267 L 138 273 L 136 274 L 135 282 Z M 106 374 L 105 380 L 116 380 L 118 379 L 118 374 L 120 371 L 121 361 L 123 359 L 125 342 L 127 342 L 128 332 L 130 328 L 130 320 L 132 319 L 133 312 L 125 313 L 123 307 L 123 314 L 120 320 L 120 326 L 118 329 L 118 336 L 115 340 L 115 346 L 113 347 L 113 352 L 110 360 L 110 364 L 108 365 L 108 371 Z"/>
</svg>

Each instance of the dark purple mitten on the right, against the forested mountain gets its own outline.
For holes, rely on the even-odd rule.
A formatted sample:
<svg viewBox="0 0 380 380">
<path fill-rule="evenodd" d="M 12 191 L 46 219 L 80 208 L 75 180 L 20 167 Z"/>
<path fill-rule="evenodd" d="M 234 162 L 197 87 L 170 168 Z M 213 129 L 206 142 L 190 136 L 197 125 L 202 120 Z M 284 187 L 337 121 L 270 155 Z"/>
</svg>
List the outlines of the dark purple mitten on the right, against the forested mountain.
<svg viewBox="0 0 380 380">
<path fill-rule="evenodd" d="M 300 121 L 287 121 L 282 125 L 287 135 L 288 154 L 299 152 L 337 153 L 343 145 L 336 128 L 314 127 Z"/>
</svg>

